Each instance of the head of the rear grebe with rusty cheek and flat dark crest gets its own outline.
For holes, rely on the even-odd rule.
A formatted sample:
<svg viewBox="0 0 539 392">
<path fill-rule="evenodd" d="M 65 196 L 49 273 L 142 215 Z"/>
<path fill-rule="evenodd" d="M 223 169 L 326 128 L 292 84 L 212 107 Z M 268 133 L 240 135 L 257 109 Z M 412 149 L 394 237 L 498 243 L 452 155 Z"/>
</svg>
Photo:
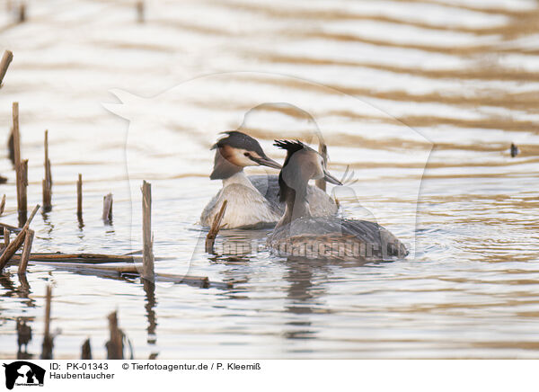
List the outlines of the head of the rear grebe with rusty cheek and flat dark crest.
<svg viewBox="0 0 539 392">
<path fill-rule="evenodd" d="M 268 166 L 280 169 L 281 165 L 266 156 L 254 138 L 237 130 L 223 132 L 226 136 L 217 140 L 211 149 L 216 149 L 211 180 L 224 180 L 243 170 L 245 166 Z"/>
</svg>

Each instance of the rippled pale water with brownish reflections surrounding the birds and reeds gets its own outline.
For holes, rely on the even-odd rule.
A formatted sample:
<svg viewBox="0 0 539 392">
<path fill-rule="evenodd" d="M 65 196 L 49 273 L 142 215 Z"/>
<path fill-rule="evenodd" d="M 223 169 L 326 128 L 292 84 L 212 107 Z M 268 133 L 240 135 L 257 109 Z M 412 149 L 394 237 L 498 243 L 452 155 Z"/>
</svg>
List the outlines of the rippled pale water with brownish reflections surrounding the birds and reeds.
<svg viewBox="0 0 539 392">
<path fill-rule="evenodd" d="M 0 357 L 16 354 L 17 317 L 33 328 L 29 351 L 40 352 L 48 283 L 57 358 L 77 358 L 87 337 L 105 357 L 115 309 L 136 358 L 539 357 L 539 3 L 160 0 L 145 2 L 145 22 L 128 0 L 25 3 L 20 24 L 20 2 L 0 9 L 0 49 L 14 55 L 0 132 L 7 141 L 19 102 L 32 206 L 49 129 L 54 206 L 32 222 L 32 250 L 139 249 L 146 179 L 155 254 L 170 257 L 157 272 L 237 282 L 151 293 L 138 281 L 31 265 L 26 290 L 10 267 L 0 279 Z M 320 129 L 331 172 L 349 165 L 358 179 L 337 194 L 342 214 L 376 218 L 414 254 L 293 263 L 263 249 L 268 230 L 218 237 L 217 249 L 247 242 L 257 252 L 196 247 L 200 211 L 221 186 L 208 179 L 209 147 L 237 128 L 278 160 L 273 138 L 315 147 Z M 0 173 L 2 220 L 15 224 L 7 148 Z M 112 225 L 101 220 L 108 192 Z"/>
</svg>

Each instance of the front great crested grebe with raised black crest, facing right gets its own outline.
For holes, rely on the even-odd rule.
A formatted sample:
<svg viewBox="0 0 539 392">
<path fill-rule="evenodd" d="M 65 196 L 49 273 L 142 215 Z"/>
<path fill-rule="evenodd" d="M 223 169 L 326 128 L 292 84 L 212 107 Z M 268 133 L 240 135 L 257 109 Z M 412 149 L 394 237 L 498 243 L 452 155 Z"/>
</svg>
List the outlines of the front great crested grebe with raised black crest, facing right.
<svg viewBox="0 0 539 392">
<path fill-rule="evenodd" d="M 309 180 L 341 183 L 325 170 L 322 156 L 311 147 L 298 140 L 276 140 L 275 146 L 287 150 L 278 176 L 279 198 L 286 209 L 267 241 L 275 253 L 335 261 L 387 260 L 408 254 L 399 239 L 374 222 L 313 217 L 305 200 Z"/>
</svg>

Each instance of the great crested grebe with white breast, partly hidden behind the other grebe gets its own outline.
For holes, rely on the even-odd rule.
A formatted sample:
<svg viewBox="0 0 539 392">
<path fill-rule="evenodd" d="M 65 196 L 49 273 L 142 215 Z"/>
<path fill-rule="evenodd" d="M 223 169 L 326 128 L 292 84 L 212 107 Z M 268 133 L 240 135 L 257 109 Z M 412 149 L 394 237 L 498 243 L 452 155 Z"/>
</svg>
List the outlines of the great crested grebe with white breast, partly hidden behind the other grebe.
<svg viewBox="0 0 539 392">
<path fill-rule="evenodd" d="M 250 175 L 243 167 L 264 165 L 280 169 L 270 159 L 256 139 L 237 130 L 224 132 L 211 149 L 216 150 L 211 180 L 222 180 L 223 188 L 202 211 L 200 224 L 211 226 L 216 214 L 227 200 L 223 228 L 263 227 L 275 224 L 285 211 L 285 203 L 278 198 L 278 175 Z M 307 200 L 314 216 L 337 213 L 338 207 L 331 197 L 312 185 L 307 187 Z"/>
</svg>

